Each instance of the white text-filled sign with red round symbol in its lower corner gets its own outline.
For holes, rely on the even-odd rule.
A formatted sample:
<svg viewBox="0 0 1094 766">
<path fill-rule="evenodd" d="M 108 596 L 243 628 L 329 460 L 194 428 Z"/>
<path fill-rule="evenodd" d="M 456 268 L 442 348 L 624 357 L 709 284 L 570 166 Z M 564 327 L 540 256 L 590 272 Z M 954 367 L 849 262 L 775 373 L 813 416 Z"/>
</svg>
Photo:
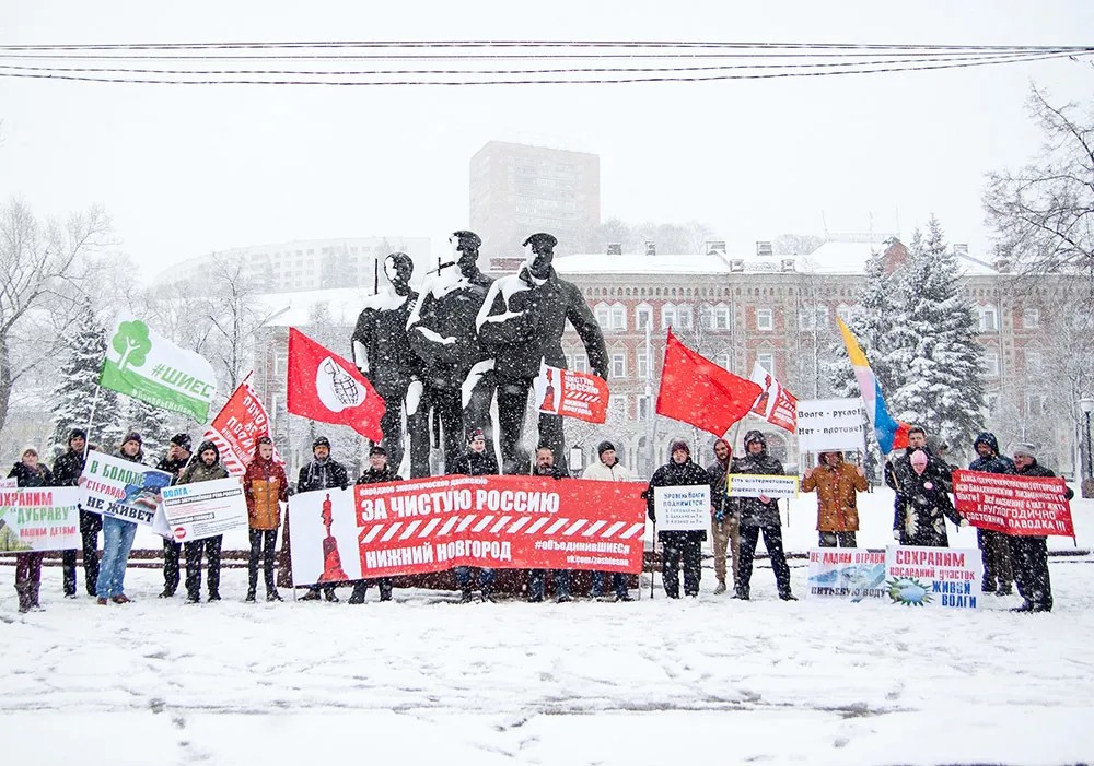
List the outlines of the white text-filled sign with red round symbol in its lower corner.
<svg viewBox="0 0 1094 766">
<path fill-rule="evenodd" d="M 179 543 L 247 526 L 247 502 L 238 479 L 165 487 L 163 512 L 172 537 Z"/>
</svg>

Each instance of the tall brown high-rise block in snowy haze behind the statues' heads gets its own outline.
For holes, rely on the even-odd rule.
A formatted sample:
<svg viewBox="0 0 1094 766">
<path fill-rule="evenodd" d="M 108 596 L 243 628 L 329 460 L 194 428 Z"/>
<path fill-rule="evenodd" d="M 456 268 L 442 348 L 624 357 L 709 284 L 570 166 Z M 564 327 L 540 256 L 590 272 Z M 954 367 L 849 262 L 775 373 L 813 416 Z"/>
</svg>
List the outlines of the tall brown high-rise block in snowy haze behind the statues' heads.
<svg viewBox="0 0 1094 766">
<path fill-rule="evenodd" d="M 482 268 L 513 271 L 521 243 L 547 232 L 560 256 L 583 251 L 601 222 L 595 154 L 490 141 L 470 163 L 470 227 L 482 237 Z"/>
</svg>

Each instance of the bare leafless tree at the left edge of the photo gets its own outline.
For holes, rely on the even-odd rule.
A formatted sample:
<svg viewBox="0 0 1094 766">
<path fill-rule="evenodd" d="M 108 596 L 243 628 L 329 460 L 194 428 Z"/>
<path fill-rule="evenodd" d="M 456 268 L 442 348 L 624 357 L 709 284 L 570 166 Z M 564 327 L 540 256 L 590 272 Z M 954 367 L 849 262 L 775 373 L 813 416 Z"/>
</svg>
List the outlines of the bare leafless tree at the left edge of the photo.
<svg viewBox="0 0 1094 766">
<path fill-rule="evenodd" d="M 106 245 L 100 208 L 66 224 L 39 222 L 20 200 L 0 209 L 0 428 L 12 390 L 34 367 L 55 358 L 63 330 L 79 318 L 88 256 Z"/>
</svg>

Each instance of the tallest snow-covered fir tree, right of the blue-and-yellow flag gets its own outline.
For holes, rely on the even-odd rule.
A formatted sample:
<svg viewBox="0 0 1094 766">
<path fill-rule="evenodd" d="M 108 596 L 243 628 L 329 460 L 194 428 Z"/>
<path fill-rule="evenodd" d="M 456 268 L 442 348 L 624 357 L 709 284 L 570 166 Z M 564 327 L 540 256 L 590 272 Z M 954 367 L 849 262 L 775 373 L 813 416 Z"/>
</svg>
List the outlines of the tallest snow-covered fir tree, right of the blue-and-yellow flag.
<svg viewBox="0 0 1094 766">
<path fill-rule="evenodd" d="M 957 258 L 946 248 L 936 219 L 927 236 L 912 238 L 908 262 L 897 274 L 897 310 L 871 358 L 892 414 L 922 425 L 953 445 L 971 441 L 981 426 L 984 372 L 973 307 L 961 291 Z M 886 385 L 888 384 L 888 385 Z M 896 384 L 895 386 L 893 384 Z"/>
</svg>

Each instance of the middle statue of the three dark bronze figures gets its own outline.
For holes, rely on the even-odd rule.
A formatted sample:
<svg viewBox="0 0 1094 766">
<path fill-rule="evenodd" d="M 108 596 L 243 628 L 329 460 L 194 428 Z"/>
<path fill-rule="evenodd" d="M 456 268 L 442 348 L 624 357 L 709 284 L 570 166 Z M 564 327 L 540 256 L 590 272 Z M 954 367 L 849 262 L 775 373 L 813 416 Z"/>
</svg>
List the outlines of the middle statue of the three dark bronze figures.
<svg viewBox="0 0 1094 766">
<path fill-rule="evenodd" d="M 438 266 L 407 320 L 410 347 L 424 364 L 423 396 L 443 432 L 446 471 L 463 451 L 461 437 L 467 428 L 492 431 L 493 397 L 493 360 L 475 328 L 493 283 L 478 268 L 482 240 L 474 232 L 459 231 L 449 241 L 452 260 Z"/>
</svg>

